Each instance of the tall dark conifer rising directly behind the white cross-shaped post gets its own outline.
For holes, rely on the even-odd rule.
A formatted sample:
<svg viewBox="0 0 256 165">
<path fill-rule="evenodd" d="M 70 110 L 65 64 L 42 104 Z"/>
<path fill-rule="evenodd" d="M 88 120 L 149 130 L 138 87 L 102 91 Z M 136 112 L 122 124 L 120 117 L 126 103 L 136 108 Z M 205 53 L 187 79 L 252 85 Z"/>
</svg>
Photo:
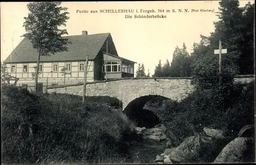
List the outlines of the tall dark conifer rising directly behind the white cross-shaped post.
<svg viewBox="0 0 256 165">
<path fill-rule="evenodd" d="M 243 9 L 239 8 L 239 1 L 220 1 L 218 17 L 220 21 L 214 22 L 215 33 L 210 36 L 210 43 L 215 49 L 219 49 L 219 40 L 222 41 L 222 47 L 227 48 L 227 53 L 222 57 L 222 66 L 227 66 L 234 73 L 240 72 L 240 58 L 242 56 L 242 47 L 248 40 L 244 34 L 248 33 L 245 29 L 246 23 L 243 18 Z M 253 17 L 251 18 L 253 19 Z M 251 20 L 250 20 L 251 21 Z M 252 32 L 251 26 L 251 32 Z M 244 34 L 243 34 L 244 33 Z M 244 59 L 245 60 L 245 59 Z M 243 60 L 242 60 L 243 61 Z M 227 69 L 227 68 L 226 68 Z"/>
</svg>

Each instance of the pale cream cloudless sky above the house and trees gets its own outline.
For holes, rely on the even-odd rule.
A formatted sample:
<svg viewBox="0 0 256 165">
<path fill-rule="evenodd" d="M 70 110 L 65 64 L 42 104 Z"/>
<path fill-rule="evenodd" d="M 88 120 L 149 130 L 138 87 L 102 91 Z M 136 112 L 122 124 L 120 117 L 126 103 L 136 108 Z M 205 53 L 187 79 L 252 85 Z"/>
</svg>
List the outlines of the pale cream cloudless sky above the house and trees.
<svg viewBox="0 0 256 165">
<path fill-rule="evenodd" d="M 248 2 L 240 1 L 240 6 L 245 6 Z M 1 61 L 23 39 L 20 36 L 25 33 L 23 22 L 24 17 L 28 16 L 27 4 L 28 2 L 1 3 Z M 67 29 L 68 36 L 81 35 L 82 31 L 88 31 L 89 35 L 111 33 L 118 56 L 138 64 L 143 63 L 146 74 L 150 69 L 151 75 L 159 60 L 162 65 L 166 59 L 172 61 L 176 46 L 181 47 L 184 42 L 188 52 L 191 52 L 193 43 L 200 42 L 201 34 L 209 36 L 214 32 L 213 22 L 218 20 L 216 12 L 219 11 L 219 1 L 62 2 L 61 6 L 68 8 L 69 12 L 67 26 L 62 27 Z M 133 9 L 134 13 L 100 12 L 105 9 Z M 173 9 L 176 12 L 172 12 Z M 183 12 L 178 12 L 179 9 Z M 200 12 L 201 9 L 214 12 Z M 141 10 L 154 10 L 155 13 L 140 13 Z M 125 18 L 125 15 L 133 18 Z M 163 15 L 166 18 L 135 18 L 135 15 Z M 138 64 L 135 65 L 135 71 Z"/>
</svg>

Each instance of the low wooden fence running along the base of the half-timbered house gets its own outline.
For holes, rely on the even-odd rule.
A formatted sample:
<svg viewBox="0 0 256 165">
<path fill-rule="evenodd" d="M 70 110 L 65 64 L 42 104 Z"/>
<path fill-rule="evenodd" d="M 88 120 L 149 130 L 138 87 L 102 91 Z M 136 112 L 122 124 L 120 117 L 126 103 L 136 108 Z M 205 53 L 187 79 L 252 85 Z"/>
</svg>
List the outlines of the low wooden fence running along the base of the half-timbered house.
<svg viewBox="0 0 256 165">
<path fill-rule="evenodd" d="M 75 85 L 82 83 L 82 79 L 74 79 L 74 80 L 66 80 L 65 85 Z M 54 86 L 63 86 L 64 80 L 61 81 L 40 81 L 38 82 L 38 92 L 46 93 L 47 87 L 54 87 Z M 17 82 L 17 87 L 22 87 L 28 89 L 29 92 L 35 91 L 35 82 Z"/>
</svg>

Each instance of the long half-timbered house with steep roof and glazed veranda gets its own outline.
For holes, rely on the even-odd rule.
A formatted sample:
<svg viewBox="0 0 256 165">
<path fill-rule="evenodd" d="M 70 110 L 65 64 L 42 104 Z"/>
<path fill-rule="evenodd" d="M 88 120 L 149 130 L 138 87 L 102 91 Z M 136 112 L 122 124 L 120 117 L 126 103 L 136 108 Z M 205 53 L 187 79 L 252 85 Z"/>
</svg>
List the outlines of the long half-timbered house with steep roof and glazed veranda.
<svg viewBox="0 0 256 165">
<path fill-rule="evenodd" d="M 110 33 L 67 36 L 71 44 L 68 51 L 57 52 L 51 56 L 41 56 L 39 63 L 38 82 L 63 81 L 61 73 L 67 68 L 65 80 L 83 80 L 84 67 L 87 55 L 87 81 L 134 77 L 134 64 L 118 56 L 115 44 Z M 19 82 L 34 82 L 31 73 L 37 64 L 37 50 L 32 43 L 24 38 L 4 61 L 11 76 L 19 78 Z"/>
</svg>

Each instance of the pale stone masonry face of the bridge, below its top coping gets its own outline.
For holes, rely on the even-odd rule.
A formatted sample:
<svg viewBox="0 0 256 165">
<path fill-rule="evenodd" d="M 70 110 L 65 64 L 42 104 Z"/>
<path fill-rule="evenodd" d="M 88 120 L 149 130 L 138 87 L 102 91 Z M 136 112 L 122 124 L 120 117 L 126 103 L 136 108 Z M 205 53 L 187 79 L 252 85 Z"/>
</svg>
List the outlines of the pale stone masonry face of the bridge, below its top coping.
<svg viewBox="0 0 256 165">
<path fill-rule="evenodd" d="M 67 89 L 67 90 L 66 90 Z M 48 89 L 48 93 L 66 93 L 82 96 L 83 85 Z M 194 88 L 190 79 L 120 79 L 87 84 L 86 96 L 110 96 L 123 102 L 123 108 L 132 100 L 146 95 L 161 95 L 181 100 Z"/>
</svg>

